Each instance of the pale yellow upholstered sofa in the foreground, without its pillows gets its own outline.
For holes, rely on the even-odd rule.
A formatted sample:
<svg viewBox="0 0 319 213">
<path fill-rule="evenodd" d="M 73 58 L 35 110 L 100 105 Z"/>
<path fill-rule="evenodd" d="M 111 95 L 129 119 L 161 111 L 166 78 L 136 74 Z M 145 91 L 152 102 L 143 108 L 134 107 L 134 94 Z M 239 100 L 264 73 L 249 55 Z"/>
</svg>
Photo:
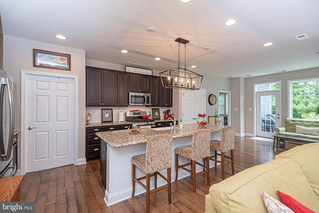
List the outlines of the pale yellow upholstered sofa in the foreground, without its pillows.
<svg viewBox="0 0 319 213">
<path fill-rule="evenodd" d="M 319 212 L 319 143 L 280 153 L 214 184 L 205 196 L 206 213 L 267 213 L 263 192 L 280 201 L 277 190 Z"/>
</svg>

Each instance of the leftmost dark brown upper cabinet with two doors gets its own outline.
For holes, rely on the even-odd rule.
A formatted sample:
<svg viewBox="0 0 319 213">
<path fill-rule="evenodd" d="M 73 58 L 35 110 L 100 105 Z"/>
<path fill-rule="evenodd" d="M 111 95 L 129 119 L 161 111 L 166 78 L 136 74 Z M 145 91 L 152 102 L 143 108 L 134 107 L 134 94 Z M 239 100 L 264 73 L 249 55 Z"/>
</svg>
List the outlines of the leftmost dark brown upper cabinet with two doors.
<svg viewBox="0 0 319 213">
<path fill-rule="evenodd" d="M 86 105 L 116 106 L 117 72 L 86 69 Z"/>
</svg>

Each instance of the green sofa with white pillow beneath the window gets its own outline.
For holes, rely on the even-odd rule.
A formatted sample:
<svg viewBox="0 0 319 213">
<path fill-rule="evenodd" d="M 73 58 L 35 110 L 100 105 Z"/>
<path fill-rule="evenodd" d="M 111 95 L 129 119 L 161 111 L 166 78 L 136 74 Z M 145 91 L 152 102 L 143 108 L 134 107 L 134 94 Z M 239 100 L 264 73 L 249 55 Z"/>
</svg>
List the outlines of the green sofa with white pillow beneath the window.
<svg viewBox="0 0 319 213">
<path fill-rule="evenodd" d="M 275 130 L 276 135 L 319 140 L 319 120 L 286 118 L 285 126 Z"/>
</svg>

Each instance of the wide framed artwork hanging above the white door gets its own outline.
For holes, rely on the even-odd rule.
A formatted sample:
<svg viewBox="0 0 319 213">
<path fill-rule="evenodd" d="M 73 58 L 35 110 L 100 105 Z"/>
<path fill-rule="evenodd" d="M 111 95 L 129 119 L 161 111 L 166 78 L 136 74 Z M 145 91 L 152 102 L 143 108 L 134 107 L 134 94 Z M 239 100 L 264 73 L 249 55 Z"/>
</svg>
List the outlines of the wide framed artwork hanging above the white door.
<svg viewBox="0 0 319 213">
<path fill-rule="evenodd" d="M 33 49 L 33 66 L 71 70 L 71 55 L 60 52 Z"/>
</svg>

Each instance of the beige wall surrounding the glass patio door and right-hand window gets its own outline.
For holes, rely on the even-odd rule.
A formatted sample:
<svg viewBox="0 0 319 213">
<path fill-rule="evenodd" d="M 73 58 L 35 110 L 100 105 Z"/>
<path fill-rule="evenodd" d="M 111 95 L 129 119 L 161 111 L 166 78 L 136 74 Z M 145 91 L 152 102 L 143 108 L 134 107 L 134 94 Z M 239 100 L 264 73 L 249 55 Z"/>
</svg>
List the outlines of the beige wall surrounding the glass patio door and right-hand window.
<svg viewBox="0 0 319 213">
<path fill-rule="evenodd" d="M 248 135 L 254 134 L 254 84 L 281 81 L 281 120 L 284 125 L 285 118 L 288 117 L 288 80 L 307 79 L 319 77 L 319 68 L 304 69 L 291 72 L 282 72 L 271 75 L 263 75 L 258 77 L 245 78 L 245 133 Z M 253 108 L 253 111 L 248 111 L 248 108 Z"/>
</svg>

